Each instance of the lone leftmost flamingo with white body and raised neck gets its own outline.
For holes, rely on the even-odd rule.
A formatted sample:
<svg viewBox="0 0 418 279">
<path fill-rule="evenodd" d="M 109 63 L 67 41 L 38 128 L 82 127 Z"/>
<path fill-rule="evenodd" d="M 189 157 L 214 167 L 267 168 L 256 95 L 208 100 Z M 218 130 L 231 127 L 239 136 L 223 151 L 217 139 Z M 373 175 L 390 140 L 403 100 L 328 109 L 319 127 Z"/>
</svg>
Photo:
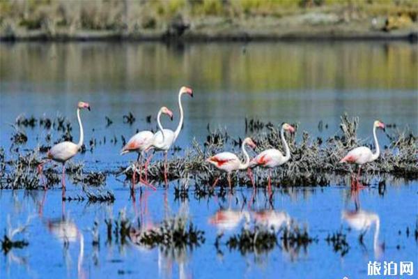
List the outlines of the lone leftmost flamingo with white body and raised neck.
<svg viewBox="0 0 418 279">
<path fill-rule="evenodd" d="M 63 199 L 65 199 L 65 162 L 67 162 L 72 157 L 77 155 L 79 150 L 82 148 L 83 141 L 84 141 L 82 119 L 80 119 L 80 110 L 82 109 L 87 109 L 90 111 L 90 105 L 88 105 L 88 103 L 85 103 L 85 102 L 79 102 L 77 105 L 77 120 L 78 120 L 79 128 L 80 128 L 80 139 L 79 139 L 78 144 L 75 144 L 74 142 L 60 142 L 59 144 L 55 144 L 47 152 L 47 160 L 45 162 L 40 163 L 40 165 L 38 165 L 38 172 L 42 177 L 42 167 L 49 160 L 54 160 L 55 162 L 63 164 L 63 174 L 61 178 Z M 44 183 L 44 188 L 45 190 L 47 190 L 47 186 L 45 183 Z"/>
</svg>

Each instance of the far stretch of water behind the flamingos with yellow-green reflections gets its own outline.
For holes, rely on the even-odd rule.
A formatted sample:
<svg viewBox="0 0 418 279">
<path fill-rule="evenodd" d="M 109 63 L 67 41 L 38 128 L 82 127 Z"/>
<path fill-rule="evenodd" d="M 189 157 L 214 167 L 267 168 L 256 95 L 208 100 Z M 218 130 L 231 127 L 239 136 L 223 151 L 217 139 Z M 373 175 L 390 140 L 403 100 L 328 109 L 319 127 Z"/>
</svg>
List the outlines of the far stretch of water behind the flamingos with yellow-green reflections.
<svg viewBox="0 0 418 279">
<path fill-rule="evenodd" d="M 189 85 L 195 98 L 185 104 L 180 146 L 193 137 L 203 140 L 208 123 L 242 136 L 245 116 L 300 122 L 311 133 L 318 133 L 322 120 L 328 127 L 323 133 L 330 135 L 348 112 L 359 116 L 361 137 L 370 136 L 376 119 L 416 132 L 417 56 L 409 43 L 2 44 L 0 117 L 1 123 L 13 123 L 21 113 L 59 112 L 74 119 L 74 105 L 86 100 L 93 109 L 86 140 L 128 138 L 138 128 L 155 129 L 144 119 L 155 118 L 162 105 L 178 117 L 176 92 Z M 128 112 L 137 118 L 132 126 L 122 124 Z M 114 121 L 111 135 L 104 133 L 104 116 Z M 5 129 L 0 140 L 8 142 L 10 132 Z M 103 157 L 117 160 L 120 148 Z"/>
</svg>

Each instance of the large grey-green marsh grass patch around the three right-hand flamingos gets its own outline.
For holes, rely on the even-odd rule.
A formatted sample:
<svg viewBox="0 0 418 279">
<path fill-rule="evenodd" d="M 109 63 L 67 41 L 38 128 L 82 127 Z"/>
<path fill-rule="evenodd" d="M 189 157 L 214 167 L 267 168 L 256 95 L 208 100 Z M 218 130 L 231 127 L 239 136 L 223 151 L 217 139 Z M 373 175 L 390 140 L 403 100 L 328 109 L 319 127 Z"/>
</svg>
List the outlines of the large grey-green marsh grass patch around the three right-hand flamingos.
<svg viewBox="0 0 418 279">
<path fill-rule="evenodd" d="M 353 166 L 339 164 L 339 160 L 356 146 L 366 144 L 357 138 L 357 126 L 359 119 L 349 118 L 346 114 L 341 116 L 341 131 L 339 134 L 329 137 L 326 140 L 321 138 L 313 139 L 307 132 L 302 132 L 302 140 L 295 142 L 295 135 L 288 135 L 288 144 L 291 149 L 291 160 L 284 166 L 272 170 L 272 183 L 274 185 L 291 186 L 328 186 L 336 176 L 343 176 L 355 171 Z M 293 124 L 297 133 L 297 124 Z M 274 126 L 263 126 L 267 130 L 254 133 L 251 138 L 257 145 L 256 153 L 265 149 L 278 148 L 284 150 L 279 128 Z M 404 179 L 418 178 L 417 165 L 417 137 L 410 132 L 394 130 L 387 134 L 391 142 L 389 148 L 383 149 L 380 158 L 363 166 L 362 172 L 366 179 L 378 174 L 391 174 L 392 176 Z M 168 163 L 169 179 L 193 178 L 196 183 L 211 185 L 215 178 L 221 175 L 219 183 L 226 184 L 226 176 L 222 175 L 215 168 L 205 162 L 215 153 L 224 149 L 235 149 L 237 153 L 241 139 L 232 139 L 225 131 L 210 131 L 203 146 L 197 142 L 192 143 L 192 148 L 185 151 L 185 155 L 178 157 L 174 155 Z M 373 147 L 369 144 L 366 146 Z M 132 169 L 127 170 L 127 179 L 132 176 Z M 164 165 L 162 161 L 152 163 L 148 169 L 148 177 L 155 181 L 162 181 Z M 256 184 L 265 186 L 268 177 L 266 169 L 254 169 L 258 177 Z M 245 172 L 238 172 L 233 176 L 233 183 L 242 186 L 250 186 L 251 183 Z M 204 193 L 197 189 L 199 193 Z"/>
</svg>

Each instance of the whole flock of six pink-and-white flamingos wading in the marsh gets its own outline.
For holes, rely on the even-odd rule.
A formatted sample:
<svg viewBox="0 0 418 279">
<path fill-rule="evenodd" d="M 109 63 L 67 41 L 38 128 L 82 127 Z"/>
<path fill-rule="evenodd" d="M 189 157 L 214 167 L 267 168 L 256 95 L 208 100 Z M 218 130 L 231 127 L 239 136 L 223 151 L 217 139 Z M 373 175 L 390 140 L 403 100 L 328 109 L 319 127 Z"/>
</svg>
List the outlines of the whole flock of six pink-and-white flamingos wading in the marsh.
<svg viewBox="0 0 418 279">
<path fill-rule="evenodd" d="M 130 140 L 123 146 L 121 150 L 121 155 L 130 152 L 137 152 L 138 158 L 136 163 L 134 164 L 134 172 L 132 175 L 132 190 L 134 189 L 136 183 L 136 175 L 139 167 L 139 182 L 143 183 L 145 186 L 149 186 L 155 190 L 155 187 L 148 183 L 147 178 L 147 168 L 150 163 L 151 158 L 155 151 L 162 151 L 164 152 L 164 181 L 167 183 L 167 153 L 171 146 L 173 146 L 174 142 L 176 142 L 178 135 L 180 134 L 180 130 L 183 126 L 183 106 L 181 103 L 181 97 L 187 94 L 193 97 L 192 89 L 183 86 L 180 88 L 178 93 L 178 108 L 180 111 L 180 121 L 176 130 L 169 130 L 164 129 L 160 122 L 161 114 L 167 114 L 170 116 L 171 120 L 173 119 L 173 112 L 169 110 L 167 107 L 161 107 L 158 114 L 157 114 L 157 125 L 159 131 L 157 133 L 153 133 L 149 130 L 144 130 L 136 135 L 132 136 Z M 84 131 L 82 126 L 82 120 L 80 118 L 80 110 L 88 109 L 90 110 L 90 105 L 85 102 L 79 102 L 77 105 L 77 119 L 79 123 L 79 142 L 75 144 L 74 142 L 60 142 L 52 146 L 51 149 L 47 152 L 47 158 L 42 160 L 42 163 L 38 166 L 38 172 L 42 175 L 42 166 L 49 162 L 50 160 L 54 160 L 55 162 L 62 164 L 62 197 L 65 198 L 65 162 L 70 158 L 74 157 L 79 150 L 82 148 L 83 141 L 84 141 Z M 354 163 L 358 165 L 358 174 L 357 174 L 357 183 L 360 175 L 360 170 L 363 164 L 372 162 L 379 157 L 380 149 L 378 144 L 378 139 L 376 137 L 376 128 L 385 129 L 385 124 L 380 121 L 375 121 L 373 123 L 373 137 L 376 146 L 376 152 L 373 153 L 371 149 L 366 146 L 359 146 L 344 156 L 339 163 Z M 242 153 L 245 155 L 245 162 L 242 163 L 238 156 L 231 152 L 222 152 L 217 153 L 214 156 L 206 159 L 207 163 L 214 165 L 217 169 L 226 172 L 228 177 L 229 187 L 231 188 L 231 173 L 239 170 L 247 169 L 249 178 L 251 179 L 251 183 L 254 187 L 254 179 L 251 174 L 251 168 L 254 167 L 267 167 L 269 169 L 269 178 L 268 178 L 268 191 L 271 193 L 271 169 L 274 167 L 279 167 L 283 165 L 291 158 L 291 152 L 289 150 L 288 144 L 285 139 L 285 132 L 294 133 L 295 128 L 289 125 L 288 123 L 284 123 L 281 126 L 281 141 L 284 146 L 284 155 L 278 149 L 267 149 L 261 153 L 259 153 L 254 158 L 250 159 L 245 147 L 248 145 L 251 148 L 255 148 L 256 144 L 251 140 L 251 138 L 247 137 L 242 142 Z M 153 153 L 146 158 L 148 151 L 153 151 Z M 143 160 L 146 158 L 146 162 L 144 164 L 144 172 L 145 172 L 145 179 L 142 178 L 142 167 L 143 167 Z M 213 183 L 213 186 L 216 186 L 219 177 Z M 44 183 L 45 190 L 46 184 Z"/>
</svg>

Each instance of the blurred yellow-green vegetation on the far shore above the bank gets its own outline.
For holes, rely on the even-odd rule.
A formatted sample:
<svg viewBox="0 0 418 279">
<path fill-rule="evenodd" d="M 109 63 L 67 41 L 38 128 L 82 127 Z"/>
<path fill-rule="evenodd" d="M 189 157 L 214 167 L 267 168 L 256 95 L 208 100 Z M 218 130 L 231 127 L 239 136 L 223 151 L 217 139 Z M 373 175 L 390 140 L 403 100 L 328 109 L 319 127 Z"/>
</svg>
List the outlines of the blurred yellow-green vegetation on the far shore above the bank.
<svg viewBox="0 0 418 279">
<path fill-rule="evenodd" d="M 192 38 L 274 37 L 325 27 L 361 34 L 415 29 L 417 15 L 414 0 L 2 0 L 0 36 L 157 39 L 187 30 Z"/>
</svg>

